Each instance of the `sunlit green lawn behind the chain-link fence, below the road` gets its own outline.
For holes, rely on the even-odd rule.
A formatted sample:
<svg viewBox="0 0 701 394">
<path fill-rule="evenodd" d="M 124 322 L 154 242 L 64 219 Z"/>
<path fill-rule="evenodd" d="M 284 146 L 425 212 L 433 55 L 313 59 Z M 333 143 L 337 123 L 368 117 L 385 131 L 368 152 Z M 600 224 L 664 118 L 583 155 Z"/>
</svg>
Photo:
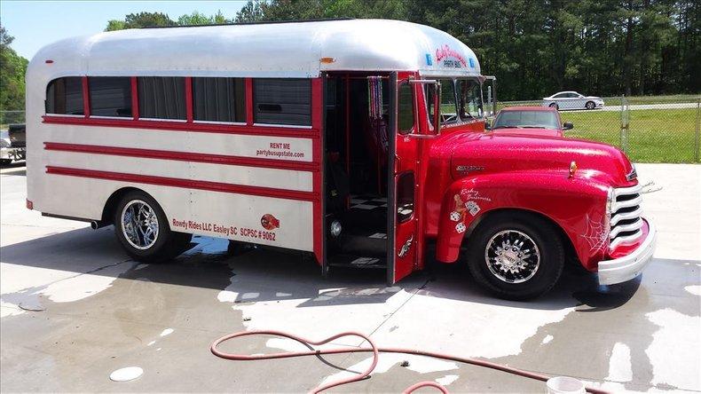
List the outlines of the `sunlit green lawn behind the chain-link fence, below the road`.
<svg viewBox="0 0 701 394">
<path fill-rule="evenodd" d="M 562 112 L 563 122 L 574 123 L 567 137 L 583 138 L 621 147 L 618 111 Z M 694 162 L 697 109 L 630 111 L 628 157 L 633 162 Z"/>
</svg>

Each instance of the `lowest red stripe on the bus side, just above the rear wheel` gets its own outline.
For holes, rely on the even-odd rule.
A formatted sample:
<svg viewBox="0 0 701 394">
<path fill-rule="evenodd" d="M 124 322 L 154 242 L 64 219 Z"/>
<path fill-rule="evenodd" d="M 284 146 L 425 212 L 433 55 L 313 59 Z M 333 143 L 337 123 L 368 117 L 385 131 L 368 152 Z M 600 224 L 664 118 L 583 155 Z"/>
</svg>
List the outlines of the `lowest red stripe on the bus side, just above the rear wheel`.
<svg viewBox="0 0 701 394">
<path fill-rule="evenodd" d="M 47 174 L 67 177 L 89 177 L 120 182 L 130 182 L 146 185 L 181 187 L 185 189 L 209 190 L 211 192 L 247 194 L 253 196 L 272 197 L 284 200 L 319 201 L 319 195 L 311 192 L 297 192 L 271 187 L 224 184 L 221 182 L 181 179 L 177 177 L 155 177 L 150 175 L 126 174 L 122 172 L 98 171 L 95 169 L 71 169 L 67 167 L 46 166 Z"/>
</svg>

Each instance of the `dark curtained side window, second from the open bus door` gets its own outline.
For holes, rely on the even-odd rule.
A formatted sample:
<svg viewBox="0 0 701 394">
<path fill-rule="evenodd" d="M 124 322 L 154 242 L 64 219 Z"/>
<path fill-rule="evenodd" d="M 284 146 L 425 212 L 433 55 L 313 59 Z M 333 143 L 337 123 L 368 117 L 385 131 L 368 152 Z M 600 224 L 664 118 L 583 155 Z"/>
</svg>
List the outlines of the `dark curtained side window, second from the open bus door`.
<svg viewBox="0 0 701 394">
<path fill-rule="evenodd" d="M 195 121 L 246 122 L 243 78 L 193 78 Z"/>
</svg>

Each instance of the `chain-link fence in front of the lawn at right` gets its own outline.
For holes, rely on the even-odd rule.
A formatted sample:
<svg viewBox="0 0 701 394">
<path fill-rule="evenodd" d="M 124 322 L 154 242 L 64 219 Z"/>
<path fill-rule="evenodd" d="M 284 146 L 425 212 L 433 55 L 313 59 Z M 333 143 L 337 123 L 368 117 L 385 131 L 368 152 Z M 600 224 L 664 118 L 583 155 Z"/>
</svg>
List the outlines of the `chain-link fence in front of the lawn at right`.
<svg viewBox="0 0 701 394">
<path fill-rule="evenodd" d="M 618 146 L 633 162 L 699 162 L 701 97 L 610 97 L 601 109 L 564 110 L 569 138 L 582 138 Z M 506 101 L 505 106 L 541 106 L 542 100 Z M 546 103 L 547 104 L 547 103 Z"/>
</svg>

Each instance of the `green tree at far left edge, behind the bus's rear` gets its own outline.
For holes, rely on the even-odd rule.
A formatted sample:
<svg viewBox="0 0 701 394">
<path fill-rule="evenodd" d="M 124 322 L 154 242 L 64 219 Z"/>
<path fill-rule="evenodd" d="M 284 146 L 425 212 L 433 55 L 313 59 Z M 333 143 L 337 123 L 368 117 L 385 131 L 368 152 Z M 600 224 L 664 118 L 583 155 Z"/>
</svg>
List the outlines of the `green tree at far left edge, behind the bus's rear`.
<svg viewBox="0 0 701 394">
<path fill-rule="evenodd" d="M 24 109 L 28 60 L 12 50 L 14 37 L 0 25 L 0 111 Z"/>
</svg>

